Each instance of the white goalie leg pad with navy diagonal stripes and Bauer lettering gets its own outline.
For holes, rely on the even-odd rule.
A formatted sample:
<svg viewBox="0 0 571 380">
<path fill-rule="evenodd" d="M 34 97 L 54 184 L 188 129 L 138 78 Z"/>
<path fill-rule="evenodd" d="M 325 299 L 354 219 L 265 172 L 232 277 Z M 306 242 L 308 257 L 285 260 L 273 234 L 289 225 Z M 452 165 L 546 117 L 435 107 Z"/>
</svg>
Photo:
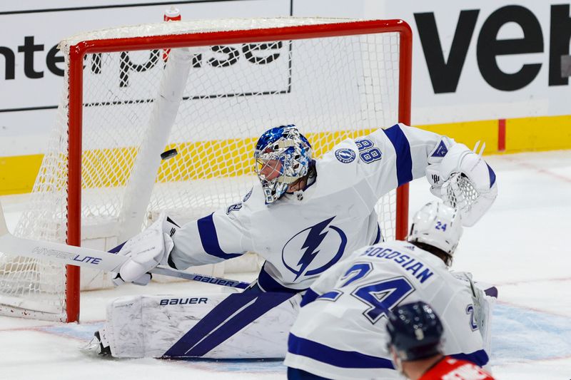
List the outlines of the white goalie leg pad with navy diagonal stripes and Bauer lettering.
<svg viewBox="0 0 571 380">
<path fill-rule="evenodd" d="M 252 302 L 254 299 L 273 295 L 206 294 L 191 297 L 132 296 L 115 299 L 108 304 L 104 327 L 111 355 L 118 358 L 282 358 L 287 350 L 289 329 L 298 314 L 300 295 L 291 297 L 291 294 L 288 294 L 288 297 L 284 297 L 285 300 L 281 299 L 279 302 L 275 299 L 277 307 L 271 307 L 275 305 L 266 302 L 263 307 L 271 307 L 269 311 L 265 309 L 260 313 L 261 316 L 256 317 L 253 322 L 249 321 L 251 323 L 248 322 L 246 327 L 237 328 L 240 315 L 244 316 L 248 306 L 256 303 Z M 236 297 L 232 303 L 236 304 L 238 309 L 224 306 L 228 304 L 228 301 L 224 301 L 229 297 Z M 221 309 L 216 309 L 219 304 Z M 258 307 L 259 305 L 258 303 Z M 201 328 L 205 325 L 212 326 Z M 228 329 L 240 331 L 236 334 L 225 332 Z M 228 334 L 231 335 L 229 338 Z M 216 339 L 222 342 L 217 342 Z M 186 344 L 193 340 L 198 342 Z M 177 346 L 178 342 L 181 343 Z M 168 351 L 171 353 L 168 354 Z"/>
</svg>

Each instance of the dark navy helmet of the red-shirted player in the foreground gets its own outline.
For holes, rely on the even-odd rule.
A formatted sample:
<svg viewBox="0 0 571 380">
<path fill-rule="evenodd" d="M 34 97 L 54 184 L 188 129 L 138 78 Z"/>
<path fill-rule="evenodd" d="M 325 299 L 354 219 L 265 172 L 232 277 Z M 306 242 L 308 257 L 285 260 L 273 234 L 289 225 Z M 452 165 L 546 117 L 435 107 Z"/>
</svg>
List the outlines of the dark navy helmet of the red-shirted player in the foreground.
<svg viewBox="0 0 571 380">
<path fill-rule="evenodd" d="M 443 326 L 430 305 L 418 301 L 395 307 L 388 313 L 389 346 L 403 361 L 425 359 L 442 353 Z"/>
</svg>

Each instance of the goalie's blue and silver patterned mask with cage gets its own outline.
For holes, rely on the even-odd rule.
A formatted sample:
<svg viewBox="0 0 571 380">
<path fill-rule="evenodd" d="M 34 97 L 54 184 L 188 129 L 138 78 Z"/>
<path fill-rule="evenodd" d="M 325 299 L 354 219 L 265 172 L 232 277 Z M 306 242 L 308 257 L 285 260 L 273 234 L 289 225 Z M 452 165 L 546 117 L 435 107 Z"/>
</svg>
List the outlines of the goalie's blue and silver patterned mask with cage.
<svg viewBox="0 0 571 380">
<path fill-rule="evenodd" d="M 281 125 L 261 135 L 254 158 L 268 205 L 279 199 L 291 183 L 308 174 L 311 145 L 295 125 Z"/>
</svg>

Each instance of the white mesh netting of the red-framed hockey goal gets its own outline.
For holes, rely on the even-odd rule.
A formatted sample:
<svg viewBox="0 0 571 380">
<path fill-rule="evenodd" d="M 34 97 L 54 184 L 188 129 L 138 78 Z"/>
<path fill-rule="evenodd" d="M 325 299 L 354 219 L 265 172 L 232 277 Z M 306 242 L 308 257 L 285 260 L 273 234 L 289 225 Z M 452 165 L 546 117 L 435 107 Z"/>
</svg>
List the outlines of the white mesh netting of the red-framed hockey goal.
<svg viewBox="0 0 571 380">
<path fill-rule="evenodd" d="M 76 36 L 61 46 L 67 52 L 70 45 L 91 38 L 323 22 L 340 20 L 164 23 L 156 24 L 156 29 L 126 27 Z M 257 180 L 253 173 L 254 144 L 272 126 L 295 123 L 319 158 L 340 140 L 365 135 L 398 120 L 396 33 L 293 41 L 268 37 L 268 41 L 206 46 L 183 53 L 190 57 L 186 80 L 183 76 L 163 78 L 167 74 L 162 50 L 86 56 L 81 234 L 91 243 L 84 244 L 97 243 L 105 249 L 115 245 L 123 229 L 122 209 L 139 197 L 148 207 L 143 207 L 146 210 L 142 210 L 138 230 L 161 210 L 183 223 L 240 200 Z M 149 120 L 156 118 L 159 88 L 168 89 L 168 83 L 176 85 L 177 81 L 186 85 L 174 123 L 170 132 L 168 125 L 158 125 L 166 128 L 166 147 L 163 144 L 161 149 L 176 148 L 178 155 L 160 163 L 157 175 L 147 170 L 151 180 L 156 178 L 147 202 L 140 186 L 133 187 L 129 177 L 141 145 L 153 139 L 148 128 L 153 125 Z M 67 110 L 66 88 L 31 207 L 21 218 L 17 235 L 66 240 Z M 380 225 L 388 240 L 394 238 L 394 203 L 393 193 L 378 205 Z M 4 304 L 0 312 L 65 319 L 65 287 L 63 267 L 0 254 L 0 303 Z"/>
</svg>

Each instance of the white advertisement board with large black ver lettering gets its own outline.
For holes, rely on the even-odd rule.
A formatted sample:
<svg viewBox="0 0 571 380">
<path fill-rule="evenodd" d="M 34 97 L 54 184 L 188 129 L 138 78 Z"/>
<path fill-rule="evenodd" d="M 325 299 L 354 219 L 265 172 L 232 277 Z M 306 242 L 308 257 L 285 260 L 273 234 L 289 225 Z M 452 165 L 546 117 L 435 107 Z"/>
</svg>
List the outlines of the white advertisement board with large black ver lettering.
<svg viewBox="0 0 571 380">
<path fill-rule="evenodd" d="M 413 122 L 568 115 L 569 1 L 386 1 L 413 28 Z"/>
</svg>

